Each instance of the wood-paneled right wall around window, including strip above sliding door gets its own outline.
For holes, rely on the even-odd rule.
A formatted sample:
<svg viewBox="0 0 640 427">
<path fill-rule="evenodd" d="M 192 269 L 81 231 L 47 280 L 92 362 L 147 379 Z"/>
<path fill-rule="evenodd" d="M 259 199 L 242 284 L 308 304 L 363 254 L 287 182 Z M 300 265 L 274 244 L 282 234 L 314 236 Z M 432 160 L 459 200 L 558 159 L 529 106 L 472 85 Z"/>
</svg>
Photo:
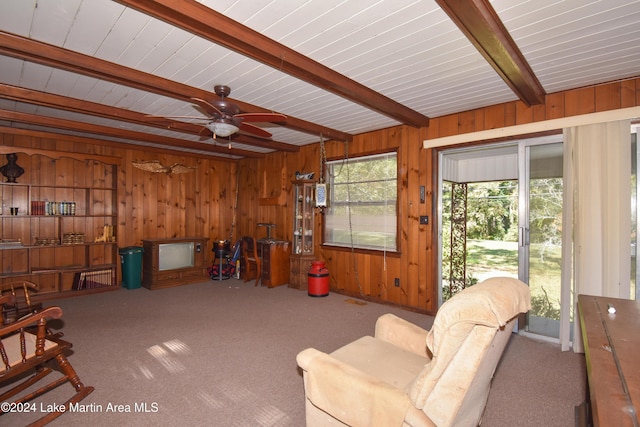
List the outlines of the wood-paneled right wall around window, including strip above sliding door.
<svg viewBox="0 0 640 427">
<path fill-rule="evenodd" d="M 348 145 L 348 155 L 398 150 L 399 161 L 399 232 L 397 254 L 341 250 L 322 247 L 316 239 L 316 255 L 327 263 L 331 289 L 366 299 L 403 305 L 415 310 L 437 309 L 437 224 L 435 149 L 422 149 L 424 139 L 532 123 L 640 105 L 640 79 L 580 88 L 547 95 L 545 104 L 527 107 L 513 101 L 432 118 L 426 129 L 399 126 L 357 135 Z M 326 143 L 327 156 L 345 155 L 342 142 Z M 319 173 L 318 144 L 305 146 L 299 153 L 274 154 L 265 159 L 239 162 L 240 198 L 238 222 L 241 235 L 264 236 L 256 223 L 277 224 L 276 236 L 291 240 L 291 179 L 296 170 Z M 279 179 L 286 176 L 284 182 Z M 260 197 L 282 194 L 281 204 L 260 205 Z M 419 189 L 426 189 L 426 203 L 419 201 Z M 428 215 L 429 225 L 420 225 L 419 216 Z M 321 218 L 316 221 L 316 235 L 321 232 Z M 394 279 L 400 279 L 400 287 Z"/>
</svg>

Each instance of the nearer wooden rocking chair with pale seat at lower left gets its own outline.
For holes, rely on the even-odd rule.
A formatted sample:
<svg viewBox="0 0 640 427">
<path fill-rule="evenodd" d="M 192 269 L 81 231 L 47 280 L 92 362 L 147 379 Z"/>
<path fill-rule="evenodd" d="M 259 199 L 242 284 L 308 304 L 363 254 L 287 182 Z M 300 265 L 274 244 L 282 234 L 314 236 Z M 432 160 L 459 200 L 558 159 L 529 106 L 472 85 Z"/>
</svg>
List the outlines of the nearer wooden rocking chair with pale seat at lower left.
<svg viewBox="0 0 640 427">
<path fill-rule="evenodd" d="M 0 296 L 0 304 L 15 304 L 15 296 L 11 294 Z M 59 408 L 57 412 L 48 412 L 31 424 L 32 426 L 43 426 L 49 423 L 69 411 L 71 404 L 81 401 L 93 391 L 93 387 L 82 384 L 78 374 L 64 355 L 64 352 L 71 348 L 71 343 L 47 332 L 47 319 L 60 317 L 62 317 L 60 307 L 49 307 L 27 314 L 8 325 L 0 326 L 0 386 L 9 384 L 11 381 L 20 381 L 0 394 L 0 402 L 9 402 L 9 399 L 50 374 L 52 369 L 44 365 L 51 360 L 58 364 L 63 375 L 12 402 L 14 404 L 28 402 L 65 382 L 71 383 L 75 390 L 75 394 L 63 405 L 64 408 Z M 0 410 L 1 415 L 6 416 L 2 410 Z"/>
</svg>

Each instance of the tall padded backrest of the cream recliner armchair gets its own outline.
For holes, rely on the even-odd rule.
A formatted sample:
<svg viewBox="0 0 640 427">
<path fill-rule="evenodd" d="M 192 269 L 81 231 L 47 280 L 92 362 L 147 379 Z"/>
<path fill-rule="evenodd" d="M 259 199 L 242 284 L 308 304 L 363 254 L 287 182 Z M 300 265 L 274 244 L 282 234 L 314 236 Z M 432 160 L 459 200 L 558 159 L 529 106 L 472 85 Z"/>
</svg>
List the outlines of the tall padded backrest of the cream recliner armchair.
<svg viewBox="0 0 640 427">
<path fill-rule="evenodd" d="M 530 308 L 529 287 L 507 277 L 444 303 L 427 336 L 431 362 L 408 390 L 414 405 L 440 427 L 477 426 L 513 322 Z"/>
</svg>

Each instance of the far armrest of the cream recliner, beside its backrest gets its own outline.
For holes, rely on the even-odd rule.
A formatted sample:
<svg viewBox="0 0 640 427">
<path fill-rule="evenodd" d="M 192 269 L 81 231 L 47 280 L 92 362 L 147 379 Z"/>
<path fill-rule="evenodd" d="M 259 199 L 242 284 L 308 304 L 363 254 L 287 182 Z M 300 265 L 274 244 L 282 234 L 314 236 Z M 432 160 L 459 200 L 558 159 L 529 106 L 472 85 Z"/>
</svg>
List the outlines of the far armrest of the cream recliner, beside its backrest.
<svg viewBox="0 0 640 427">
<path fill-rule="evenodd" d="M 431 359 L 431 355 L 427 353 L 428 333 L 429 331 L 390 313 L 383 314 L 376 321 L 376 338 Z"/>
</svg>

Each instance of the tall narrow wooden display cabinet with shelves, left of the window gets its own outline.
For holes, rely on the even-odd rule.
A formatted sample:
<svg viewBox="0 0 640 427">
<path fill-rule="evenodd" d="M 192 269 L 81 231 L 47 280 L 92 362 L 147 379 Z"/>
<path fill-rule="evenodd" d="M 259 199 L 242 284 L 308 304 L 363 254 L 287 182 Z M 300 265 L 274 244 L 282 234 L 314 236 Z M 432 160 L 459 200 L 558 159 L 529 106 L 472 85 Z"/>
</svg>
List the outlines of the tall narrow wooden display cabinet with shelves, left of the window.
<svg viewBox="0 0 640 427">
<path fill-rule="evenodd" d="M 309 268 L 315 259 L 315 188 L 311 180 L 293 183 L 293 250 L 290 260 L 289 287 L 307 289 Z"/>
</svg>

